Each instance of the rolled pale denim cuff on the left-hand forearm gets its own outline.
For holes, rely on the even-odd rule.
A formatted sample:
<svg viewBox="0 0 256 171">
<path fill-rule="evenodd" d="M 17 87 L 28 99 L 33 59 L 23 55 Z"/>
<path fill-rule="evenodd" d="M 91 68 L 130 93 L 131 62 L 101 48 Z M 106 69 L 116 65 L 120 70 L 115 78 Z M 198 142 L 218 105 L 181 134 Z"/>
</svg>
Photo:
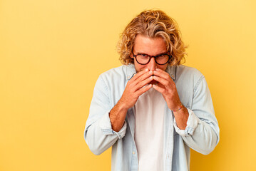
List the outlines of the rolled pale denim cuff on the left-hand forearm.
<svg viewBox="0 0 256 171">
<path fill-rule="evenodd" d="M 111 119 L 109 118 L 109 112 L 107 112 L 103 115 L 103 117 L 100 120 L 99 125 L 100 125 L 103 135 L 116 134 L 116 135 L 118 135 L 118 139 L 121 139 L 126 135 L 126 120 L 125 120 L 121 130 L 119 130 L 119 132 L 116 132 L 116 131 L 112 130 Z"/>
</svg>

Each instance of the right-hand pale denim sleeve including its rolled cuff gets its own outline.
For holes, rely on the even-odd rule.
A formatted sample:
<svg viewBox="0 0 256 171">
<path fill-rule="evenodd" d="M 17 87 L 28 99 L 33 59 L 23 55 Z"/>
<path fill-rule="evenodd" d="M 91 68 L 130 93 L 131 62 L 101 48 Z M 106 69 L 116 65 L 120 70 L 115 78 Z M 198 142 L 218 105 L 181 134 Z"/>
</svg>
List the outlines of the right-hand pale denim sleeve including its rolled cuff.
<svg viewBox="0 0 256 171">
<path fill-rule="evenodd" d="M 213 101 L 205 77 L 201 76 L 193 89 L 193 103 L 188 109 L 185 130 L 180 130 L 173 120 L 175 131 L 185 143 L 204 155 L 212 152 L 220 140 L 220 128 L 215 117 Z"/>
</svg>

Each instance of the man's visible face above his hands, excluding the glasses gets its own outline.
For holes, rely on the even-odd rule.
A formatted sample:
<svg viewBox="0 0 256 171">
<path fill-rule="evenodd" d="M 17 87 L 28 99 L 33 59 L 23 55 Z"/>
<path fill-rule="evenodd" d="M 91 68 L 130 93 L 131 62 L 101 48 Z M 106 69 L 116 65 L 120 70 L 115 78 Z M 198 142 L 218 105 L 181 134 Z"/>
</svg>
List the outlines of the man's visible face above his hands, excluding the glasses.
<svg viewBox="0 0 256 171">
<path fill-rule="evenodd" d="M 135 38 L 135 43 L 133 46 L 133 53 L 135 55 L 138 53 L 143 53 L 149 56 L 158 56 L 159 54 L 166 52 L 165 41 L 161 37 L 149 38 L 148 36 L 138 34 Z M 133 58 L 133 55 L 131 55 L 131 58 Z M 156 68 L 165 71 L 168 63 L 165 65 L 158 65 L 158 63 L 155 63 L 155 58 L 151 58 L 148 64 L 140 65 L 134 58 L 134 66 L 137 73 L 145 70 L 146 68 L 148 68 L 150 71 L 155 71 Z"/>
</svg>

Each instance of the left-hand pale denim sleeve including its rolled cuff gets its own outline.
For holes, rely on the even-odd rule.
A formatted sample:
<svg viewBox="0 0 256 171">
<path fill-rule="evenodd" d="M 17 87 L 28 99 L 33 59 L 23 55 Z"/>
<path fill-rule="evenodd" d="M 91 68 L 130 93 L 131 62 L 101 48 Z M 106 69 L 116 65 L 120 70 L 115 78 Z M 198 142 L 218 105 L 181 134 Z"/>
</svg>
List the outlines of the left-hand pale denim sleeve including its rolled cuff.
<svg viewBox="0 0 256 171">
<path fill-rule="evenodd" d="M 108 88 L 100 76 L 93 90 L 90 113 L 84 130 L 86 143 L 96 155 L 108 150 L 109 147 L 126 134 L 126 121 L 119 132 L 112 129 L 109 118 L 111 109 Z"/>
</svg>

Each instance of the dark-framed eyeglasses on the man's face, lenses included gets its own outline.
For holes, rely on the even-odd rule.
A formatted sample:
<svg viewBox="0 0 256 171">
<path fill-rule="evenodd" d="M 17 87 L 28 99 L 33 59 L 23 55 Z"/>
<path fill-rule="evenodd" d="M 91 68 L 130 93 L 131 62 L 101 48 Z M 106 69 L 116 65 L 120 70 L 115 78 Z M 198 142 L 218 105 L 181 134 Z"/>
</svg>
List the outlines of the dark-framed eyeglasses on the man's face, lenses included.
<svg viewBox="0 0 256 171">
<path fill-rule="evenodd" d="M 132 51 L 133 53 L 133 51 Z M 146 65 L 150 62 L 151 58 L 155 58 L 155 63 L 158 63 L 158 65 L 165 65 L 166 63 L 168 63 L 168 61 L 170 60 L 170 58 L 172 56 L 168 55 L 168 54 L 160 54 L 158 56 L 149 56 L 147 54 L 137 54 L 134 55 L 133 57 L 135 58 L 135 60 L 140 63 L 140 65 Z"/>
</svg>

